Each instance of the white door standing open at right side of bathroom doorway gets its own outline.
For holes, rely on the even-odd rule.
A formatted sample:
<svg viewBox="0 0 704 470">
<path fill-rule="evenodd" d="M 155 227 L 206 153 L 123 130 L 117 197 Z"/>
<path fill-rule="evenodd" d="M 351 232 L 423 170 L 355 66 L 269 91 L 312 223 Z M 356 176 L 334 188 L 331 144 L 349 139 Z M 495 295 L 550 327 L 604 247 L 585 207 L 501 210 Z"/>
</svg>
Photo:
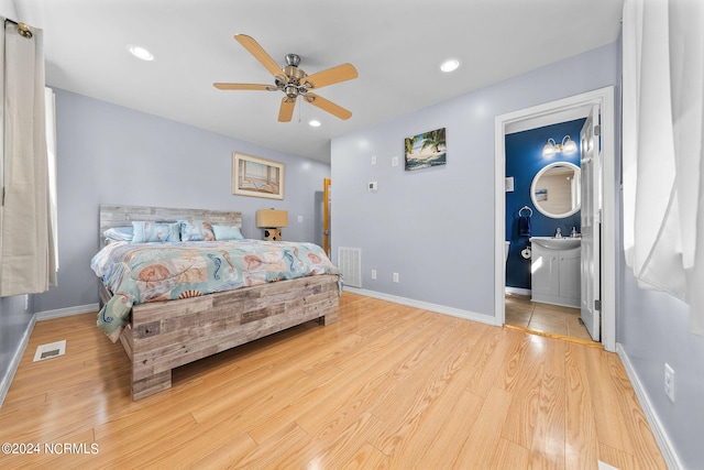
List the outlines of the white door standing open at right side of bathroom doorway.
<svg viewBox="0 0 704 470">
<path fill-rule="evenodd" d="M 580 132 L 582 145 L 582 321 L 594 341 L 601 341 L 601 212 L 602 152 L 598 106 L 592 107 Z"/>
</svg>

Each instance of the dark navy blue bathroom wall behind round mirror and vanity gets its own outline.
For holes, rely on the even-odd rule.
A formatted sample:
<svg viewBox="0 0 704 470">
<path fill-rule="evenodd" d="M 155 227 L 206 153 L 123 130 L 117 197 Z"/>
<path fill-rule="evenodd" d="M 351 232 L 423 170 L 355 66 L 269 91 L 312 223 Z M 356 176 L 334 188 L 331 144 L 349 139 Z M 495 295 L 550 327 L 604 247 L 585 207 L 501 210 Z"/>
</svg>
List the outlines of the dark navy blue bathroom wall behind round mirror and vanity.
<svg viewBox="0 0 704 470">
<path fill-rule="evenodd" d="M 530 184 L 534 176 L 546 165 L 554 162 L 570 162 L 580 166 L 580 131 L 584 119 L 578 119 L 544 128 L 531 129 L 506 135 L 506 176 L 514 177 L 514 190 L 506 193 L 506 240 L 510 241 L 506 264 L 506 286 L 530 288 L 530 260 L 521 258 L 520 252 L 530 242 L 528 237 L 519 237 L 518 212 L 521 207 L 532 209 L 530 220 L 534 237 L 552 237 L 558 228 L 565 237 L 572 227 L 580 232 L 580 211 L 562 219 L 552 219 L 540 214 L 530 200 Z M 542 147 L 548 139 L 562 142 L 565 135 L 578 143 L 578 151 L 572 155 L 558 153 L 551 157 L 542 156 Z M 525 210 L 524 215 L 528 211 Z"/>
</svg>

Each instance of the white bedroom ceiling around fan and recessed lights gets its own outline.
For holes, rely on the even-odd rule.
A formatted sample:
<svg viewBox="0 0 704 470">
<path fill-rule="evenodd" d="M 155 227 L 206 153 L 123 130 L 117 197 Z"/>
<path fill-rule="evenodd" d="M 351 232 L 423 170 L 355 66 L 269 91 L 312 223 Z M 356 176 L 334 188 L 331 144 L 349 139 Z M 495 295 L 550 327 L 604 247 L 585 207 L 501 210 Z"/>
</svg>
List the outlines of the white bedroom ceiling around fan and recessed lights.
<svg viewBox="0 0 704 470">
<path fill-rule="evenodd" d="M 270 149 L 330 161 L 333 136 L 614 42 L 623 0 L 14 0 L 44 30 L 48 85 Z M 222 91 L 213 81 L 272 84 L 233 35 L 309 75 L 349 62 L 359 78 L 317 90 L 352 111 L 308 103 L 277 121 L 278 91 Z M 142 62 L 128 44 L 154 53 Z M 453 74 L 439 70 L 458 57 Z M 310 119 L 322 122 L 310 128 Z"/>
</svg>

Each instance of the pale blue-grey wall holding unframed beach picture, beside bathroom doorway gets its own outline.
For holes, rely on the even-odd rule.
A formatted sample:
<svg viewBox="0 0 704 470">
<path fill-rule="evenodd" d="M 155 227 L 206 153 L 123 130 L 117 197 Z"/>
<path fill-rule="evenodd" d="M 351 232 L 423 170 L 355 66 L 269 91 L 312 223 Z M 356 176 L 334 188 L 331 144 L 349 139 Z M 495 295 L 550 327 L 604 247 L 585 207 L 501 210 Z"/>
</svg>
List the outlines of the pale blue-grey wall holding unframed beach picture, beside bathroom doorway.
<svg viewBox="0 0 704 470">
<path fill-rule="evenodd" d="M 333 259 L 339 247 L 361 248 L 363 288 L 493 317 L 494 119 L 615 85 L 616 55 L 616 44 L 600 47 L 334 139 Z M 442 127 L 447 165 L 392 166 L 393 156 L 403 164 L 406 136 Z M 377 193 L 367 192 L 370 181 Z"/>
</svg>

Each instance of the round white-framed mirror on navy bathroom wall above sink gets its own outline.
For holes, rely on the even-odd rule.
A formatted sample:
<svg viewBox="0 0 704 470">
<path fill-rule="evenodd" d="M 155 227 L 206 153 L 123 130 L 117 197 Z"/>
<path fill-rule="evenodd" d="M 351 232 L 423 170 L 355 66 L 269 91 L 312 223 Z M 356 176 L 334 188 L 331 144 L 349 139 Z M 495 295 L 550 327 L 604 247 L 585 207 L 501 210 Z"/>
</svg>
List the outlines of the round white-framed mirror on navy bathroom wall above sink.
<svg viewBox="0 0 704 470">
<path fill-rule="evenodd" d="M 582 207 L 582 172 L 570 162 L 543 166 L 532 178 L 530 199 L 543 216 L 561 219 Z"/>
</svg>

